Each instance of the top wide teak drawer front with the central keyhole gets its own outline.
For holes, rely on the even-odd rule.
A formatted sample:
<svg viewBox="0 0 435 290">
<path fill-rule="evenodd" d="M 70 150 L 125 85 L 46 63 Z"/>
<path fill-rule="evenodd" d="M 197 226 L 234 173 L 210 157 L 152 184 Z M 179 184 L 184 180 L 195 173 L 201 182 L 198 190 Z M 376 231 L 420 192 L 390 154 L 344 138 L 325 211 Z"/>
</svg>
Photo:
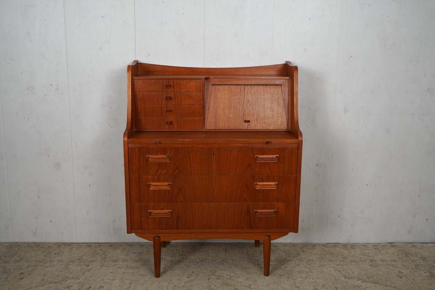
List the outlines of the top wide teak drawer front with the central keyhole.
<svg viewBox="0 0 435 290">
<path fill-rule="evenodd" d="M 149 163 L 146 156 L 150 154 L 169 154 L 172 159 L 168 163 Z M 257 162 L 258 155 L 278 155 L 279 160 Z M 298 148 L 129 148 L 129 174 L 294 175 L 297 160 Z"/>
</svg>

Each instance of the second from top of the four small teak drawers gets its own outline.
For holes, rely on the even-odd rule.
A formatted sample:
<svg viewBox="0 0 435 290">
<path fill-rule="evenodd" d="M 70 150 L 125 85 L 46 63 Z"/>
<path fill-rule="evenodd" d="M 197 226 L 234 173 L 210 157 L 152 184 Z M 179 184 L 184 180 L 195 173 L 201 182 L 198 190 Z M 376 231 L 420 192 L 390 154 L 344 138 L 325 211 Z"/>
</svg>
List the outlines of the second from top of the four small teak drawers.
<svg viewBox="0 0 435 290">
<path fill-rule="evenodd" d="M 135 92 L 136 105 L 201 105 L 198 92 Z"/>
</svg>

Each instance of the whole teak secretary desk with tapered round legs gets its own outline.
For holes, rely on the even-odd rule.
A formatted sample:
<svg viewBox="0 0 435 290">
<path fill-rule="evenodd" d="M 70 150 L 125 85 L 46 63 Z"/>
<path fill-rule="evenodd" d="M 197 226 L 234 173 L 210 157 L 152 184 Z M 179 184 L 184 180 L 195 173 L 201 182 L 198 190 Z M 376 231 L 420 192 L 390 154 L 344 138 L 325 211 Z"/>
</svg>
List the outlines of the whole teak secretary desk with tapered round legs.
<svg viewBox="0 0 435 290">
<path fill-rule="evenodd" d="M 298 67 L 127 67 L 127 233 L 271 240 L 298 232 L 302 134 Z"/>
</svg>

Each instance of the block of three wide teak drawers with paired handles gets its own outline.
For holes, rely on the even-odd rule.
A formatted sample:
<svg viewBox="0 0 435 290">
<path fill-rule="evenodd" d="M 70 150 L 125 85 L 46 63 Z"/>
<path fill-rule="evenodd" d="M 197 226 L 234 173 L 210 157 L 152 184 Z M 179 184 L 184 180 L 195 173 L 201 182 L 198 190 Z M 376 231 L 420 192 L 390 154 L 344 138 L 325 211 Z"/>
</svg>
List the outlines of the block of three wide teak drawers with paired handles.
<svg viewBox="0 0 435 290">
<path fill-rule="evenodd" d="M 132 229 L 293 229 L 297 148 L 129 148 Z"/>
</svg>

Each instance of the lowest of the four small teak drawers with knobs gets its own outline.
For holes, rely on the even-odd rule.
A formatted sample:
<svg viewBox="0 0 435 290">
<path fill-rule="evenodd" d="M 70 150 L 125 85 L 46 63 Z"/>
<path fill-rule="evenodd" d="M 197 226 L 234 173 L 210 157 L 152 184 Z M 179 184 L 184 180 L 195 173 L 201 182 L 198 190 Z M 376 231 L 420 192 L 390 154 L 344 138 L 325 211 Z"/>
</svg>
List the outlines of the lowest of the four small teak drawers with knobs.
<svg viewBox="0 0 435 290">
<path fill-rule="evenodd" d="M 201 129 L 202 117 L 137 117 L 137 129 Z"/>
</svg>

